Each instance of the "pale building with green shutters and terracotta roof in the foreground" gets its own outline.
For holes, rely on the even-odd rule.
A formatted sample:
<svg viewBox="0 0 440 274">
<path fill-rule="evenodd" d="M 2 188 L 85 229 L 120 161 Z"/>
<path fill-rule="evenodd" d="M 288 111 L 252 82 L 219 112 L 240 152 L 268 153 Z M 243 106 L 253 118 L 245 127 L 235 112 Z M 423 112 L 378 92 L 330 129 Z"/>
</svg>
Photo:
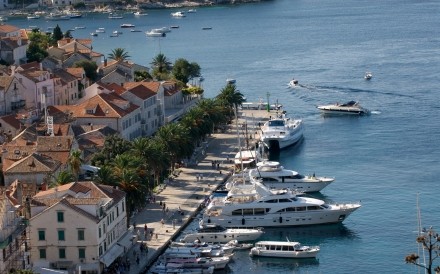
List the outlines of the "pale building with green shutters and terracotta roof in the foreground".
<svg viewBox="0 0 440 274">
<path fill-rule="evenodd" d="M 29 231 L 36 271 L 101 273 L 132 245 L 125 193 L 93 182 L 70 183 L 35 195 Z"/>
</svg>

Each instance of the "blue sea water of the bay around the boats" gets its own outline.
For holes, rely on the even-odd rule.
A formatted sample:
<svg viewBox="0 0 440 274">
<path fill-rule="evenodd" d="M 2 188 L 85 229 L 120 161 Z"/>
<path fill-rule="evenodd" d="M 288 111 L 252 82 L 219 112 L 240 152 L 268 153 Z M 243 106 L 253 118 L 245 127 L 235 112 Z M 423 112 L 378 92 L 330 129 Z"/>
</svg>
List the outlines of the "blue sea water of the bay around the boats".
<svg viewBox="0 0 440 274">
<path fill-rule="evenodd" d="M 148 16 L 106 15 L 46 22 L 10 20 L 43 29 L 57 23 L 63 31 L 98 27 L 93 49 L 108 55 L 125 48 L 131 59 L 149 65 L 159 52 L 185 58 L 202 68 L 206 97 L 215 96 L 227 78 L 237 80 L 248 101 L 283 104 L 302 118 L 302 143 L 281 151 L 286 168 L 334 176 L 318 196 L 333 201 L 362 201 L 342 225 L 267 229 L 265 238 L 319 245 L 317 260 L 252 259 L 238 252 L 227 273 L 418 273 L 406 265 L 417 252 L 416 199 L 422 223 L 440 230 L 440 2 L 420 0 L 274 0 L 215 6 L 175 19 L 172 10 Z M 179 25 L 165 38 L 124 31 L 122 23 L 143 31 Z M 212 27 L 211 30 L 202 30 Z M 363 79 L 372 71 L 373 79 Z M 294 77 L 300 86 L 288 89 Z M 316 105 L 359 101 L 367 117 L 331 117 Z"/>
</svg>

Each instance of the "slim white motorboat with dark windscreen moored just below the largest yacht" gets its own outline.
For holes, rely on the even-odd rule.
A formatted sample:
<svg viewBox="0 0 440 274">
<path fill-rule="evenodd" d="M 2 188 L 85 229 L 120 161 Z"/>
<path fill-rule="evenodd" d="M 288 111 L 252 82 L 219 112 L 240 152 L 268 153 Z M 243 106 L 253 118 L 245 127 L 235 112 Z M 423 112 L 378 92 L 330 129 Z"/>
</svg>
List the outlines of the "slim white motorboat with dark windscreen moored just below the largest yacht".
<svg viewBox="0 0 440 274">
<path fill-rule="evenodd" d="M 263 230 L 257 228 L 226 228 L 203 220 L 195 233 L 186 234 L 182 242 L 204 241 L 212 243 L 227 243 L 230 240 L 239 242 L 255 241 L 263 234 Z"/>
</svg>

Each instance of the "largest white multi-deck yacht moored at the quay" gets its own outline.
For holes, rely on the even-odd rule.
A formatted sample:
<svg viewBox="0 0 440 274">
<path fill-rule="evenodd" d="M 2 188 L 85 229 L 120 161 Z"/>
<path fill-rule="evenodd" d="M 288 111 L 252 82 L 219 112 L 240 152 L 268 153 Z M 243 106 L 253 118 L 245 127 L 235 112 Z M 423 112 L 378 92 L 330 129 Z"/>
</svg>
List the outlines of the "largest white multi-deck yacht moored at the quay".
<svg viewBox="0 0 440 274">
<path fill-rule="evenodd" d="M 226 197 L 213 198 L 203 221 L 224 227 L 283 227 L 340 223 L 360 203 L 329 204 L 323 200 L 298 196 L 287 190 L 270 190 L 252 179 L 249 186 L 233 187 Z"/>
</svg>

